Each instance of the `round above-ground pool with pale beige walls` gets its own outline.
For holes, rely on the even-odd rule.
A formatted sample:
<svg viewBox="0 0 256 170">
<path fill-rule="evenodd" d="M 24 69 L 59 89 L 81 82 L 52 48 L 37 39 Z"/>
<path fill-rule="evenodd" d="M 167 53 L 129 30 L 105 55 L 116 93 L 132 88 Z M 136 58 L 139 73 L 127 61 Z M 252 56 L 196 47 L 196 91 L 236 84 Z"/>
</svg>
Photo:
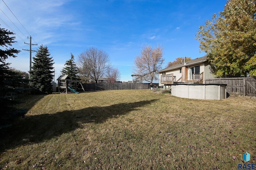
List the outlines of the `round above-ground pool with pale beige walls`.
<svg viewBox="0 0 256 170">
<path fill-rule="evenodd" d="M 172 96 L 189 99 L 226 99 L 226 84 L 172 84 Z"/>
</svg>

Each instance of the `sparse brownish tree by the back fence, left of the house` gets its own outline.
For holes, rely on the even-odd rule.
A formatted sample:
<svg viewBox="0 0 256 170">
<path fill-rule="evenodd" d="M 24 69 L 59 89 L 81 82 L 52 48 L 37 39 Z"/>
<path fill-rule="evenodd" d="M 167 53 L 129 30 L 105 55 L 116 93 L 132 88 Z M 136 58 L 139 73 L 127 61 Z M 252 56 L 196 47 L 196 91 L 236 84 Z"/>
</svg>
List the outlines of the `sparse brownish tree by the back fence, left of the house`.
<svg viewBox="0 0 256 170">
<path fill-rule="evenodd" d="M 153 80 L 157 80 L 157 70 L 162 69 L 164 62 L 163 47 L 157 46 L 152 48 L 150 45 L 142 47 L 140 56 L 134 61 L 134 74 L 142 75 L 144 80 L 152 84 Z"/>
</svg>

